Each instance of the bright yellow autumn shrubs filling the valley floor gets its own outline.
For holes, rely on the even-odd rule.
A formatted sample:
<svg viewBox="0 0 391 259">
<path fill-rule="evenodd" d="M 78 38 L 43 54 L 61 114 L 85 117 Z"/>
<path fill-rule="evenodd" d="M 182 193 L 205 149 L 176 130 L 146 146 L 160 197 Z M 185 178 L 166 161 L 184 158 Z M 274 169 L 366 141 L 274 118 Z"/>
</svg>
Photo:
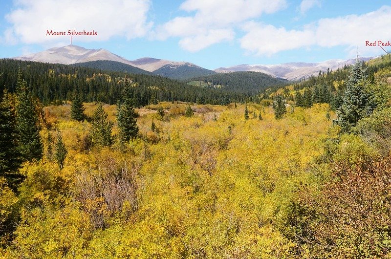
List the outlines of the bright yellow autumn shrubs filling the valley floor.
<svg viewBox="0 0 391 259">
<path fill-rule="evenodd" d="M 182 114 L 187 106 L 159 105 L 175 115 Z M 96 104 L 85 107 L 86 114 L 91 115 Z M 112 121 L 115 108 L 105 106 Z M 6 255 L 288 257 L 294 245 L 275 226 L 283 221 L 296 186 L 313 180 L 306 169 L 322 153 L 322 142 L 331 126 L 326 119 L 329 107 L 295 108 L 276 120 L 272 108 L 248 104 L 249 111 L 261 112 L 263 120 L 250 116 L 247 121 L 244 105 L 236 109 L 192 108 L 200 112 L 189 118 L 158 119 L 155 113 L 141 114 L 137 123 L 145 138 L 131 140 L 124 151 L 93 148 L 82 152 L 80 139 L 87 134 L 89 124 L 70 120 L 68 106 L 48 107 L 68 155 L 63 170 L 49 161 L 23 167 L 27 178 L 21 197 L 28 206 L 22 210 L 22 223 Z M 205 119 L 214 112 L 216 121 Z M 155 132 L 150 129 L 152 119 L 158 129 Z M 119 172 L 125 164 L 140 165 L 137 210 L 130 216 L 123 216 L 133 208 L 129 201 L 123 203 L 122 211 L 110 211 L 112 204 L 105 198 L 109 190 L 98 184 L 99 177 Z M 84 185 L 80 184 L 81 176 L 87 179 Z M 120 180 L 116 177 L 113 181 Z M 85 186 L 86 194 L 91 186 L 101 194 L 96 191 L 94 197 L 77 202 L 80 186 Z M 94 230 L 91 225 L 94 210 L 106 222 L 102 229 Z"/>
</svg>

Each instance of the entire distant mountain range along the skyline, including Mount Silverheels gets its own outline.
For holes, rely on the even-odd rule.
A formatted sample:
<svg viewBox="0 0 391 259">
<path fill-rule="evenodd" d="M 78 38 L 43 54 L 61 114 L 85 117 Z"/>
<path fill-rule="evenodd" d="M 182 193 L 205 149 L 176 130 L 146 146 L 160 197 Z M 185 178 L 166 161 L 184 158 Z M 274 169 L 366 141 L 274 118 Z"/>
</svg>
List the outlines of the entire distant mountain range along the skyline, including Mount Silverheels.
<svg viewBox="0 0 391 259">
<path fill-rule="evenodd" d="M 361 58 L 367 61 L 372 59 Z M 328 60 L 321 63 L 285 63 L 280 65 L 234 65 L 209 70 L 189 62 L 175 62 L 155 58 L 127 60 L 105 49 L 86 49 L 76 45 L 54 47 L 39 53 L 15 57 L 13 59 L 36 61 L 43 63 L 58 63 L 80 65 L 102 70 L 125 71 L 136 74 L 156 74 L 172 79 L 188 80 L 195 77 L 238 71 L 254 71 L 287 80 L 301 80 L 317 75 L 319 70 L 326 72 L 327 68 L 335 70 L 344 65 L 350 65 L 355 59 Z M 107 61 L 107 62 L 102 62 Z"/>
</svg>

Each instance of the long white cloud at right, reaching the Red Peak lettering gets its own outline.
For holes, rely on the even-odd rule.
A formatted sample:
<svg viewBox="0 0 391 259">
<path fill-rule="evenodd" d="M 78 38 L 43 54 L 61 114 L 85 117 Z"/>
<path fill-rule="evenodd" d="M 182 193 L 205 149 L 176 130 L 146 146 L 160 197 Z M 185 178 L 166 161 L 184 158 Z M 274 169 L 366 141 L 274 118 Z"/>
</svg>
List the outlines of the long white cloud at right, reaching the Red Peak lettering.
<svg viewBox="0 0 391 259">
<path fill-rule="evenodd" d="M 360 47 L 360 53 L 369 53 L 373 47 L 365 47 L 365 41 L 387 42 L 391 39 L 390 21 L 391 7 L 383 6 L 363 15 L 321 19 L 301 30 L 249 22 L 243 27 L 246 34 L 240 39 L 240 45 L 257 55 L 310 46 L 346 46 L 347 50 Z"/>
</svg>

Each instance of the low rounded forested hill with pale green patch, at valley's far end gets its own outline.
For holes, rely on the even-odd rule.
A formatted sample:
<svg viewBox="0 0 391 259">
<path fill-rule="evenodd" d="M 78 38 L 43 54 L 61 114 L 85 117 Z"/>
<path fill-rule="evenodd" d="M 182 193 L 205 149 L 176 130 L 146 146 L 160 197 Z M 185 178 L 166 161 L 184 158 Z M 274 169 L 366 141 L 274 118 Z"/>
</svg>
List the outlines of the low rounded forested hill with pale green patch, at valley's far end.
<svg viewBox="0 0 391 259">
<path fill-rule="evenodd" d="M 199 85 L 197 81 L 206 83 L 211 88 L 227 91 L 256 94 L 266 88 L 279 87 L 288 84 L 287 80 L 271 77 L 260 72 L 216 73 L 191 79 L 191 85 Z M 203 85 L 203 84 L 201 84 Z"/>
</svg>

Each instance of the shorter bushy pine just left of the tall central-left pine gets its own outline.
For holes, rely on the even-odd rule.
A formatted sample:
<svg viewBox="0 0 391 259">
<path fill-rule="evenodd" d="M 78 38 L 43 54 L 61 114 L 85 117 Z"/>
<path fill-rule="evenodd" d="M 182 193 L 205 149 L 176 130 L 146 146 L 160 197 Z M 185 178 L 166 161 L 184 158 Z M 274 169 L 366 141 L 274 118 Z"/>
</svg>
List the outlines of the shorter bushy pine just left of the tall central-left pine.
<svg viewBox="0 0 391 259">
<path fill-rule="evenodd" d="M 111 146 L 113 139 L 111 136 L 111 130 L 113 123 L 107 121 L 108 114 L 103 109 L 102 105 L 99 105 L 92 117 L 92 141 L 98 146 Z"/>
</svg>

